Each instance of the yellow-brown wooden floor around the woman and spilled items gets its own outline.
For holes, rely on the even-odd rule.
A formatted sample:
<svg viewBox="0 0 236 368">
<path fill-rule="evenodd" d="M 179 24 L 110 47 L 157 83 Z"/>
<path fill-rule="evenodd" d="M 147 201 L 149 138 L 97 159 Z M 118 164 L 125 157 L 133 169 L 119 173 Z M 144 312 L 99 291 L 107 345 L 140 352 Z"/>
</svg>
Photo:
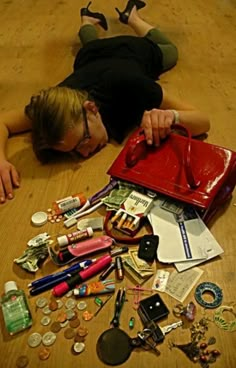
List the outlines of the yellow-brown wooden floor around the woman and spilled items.
<svg viewBox="0 0 236 368">
<path fill-rule="evenodd" d="M 205 110 L 211 118 L 208 141 L 236 150 L 236 3 L 235 0 L 148 0 L 142 15 L 153 25 L 158 25 L 176 43 L 179 62 L 175 69 L 161 76 L 160 83 L 166 90 L 189 100 Z M 75 53 L 79 49 L 77 31 L 80 26 L 79 9 L 86 1 L 59 0 L 2 0 L 0 2 L 0 109 L 1 111 L 22 107 L 32 93 L 62 80 L 72 70 Z M 101 36 L 132 33 L 117 20 L 114 7 L 124 8 L 125 1 L 94 0 L 93 9 L 105 12 L 109 31 Z M 0 288 L 7 280 L 17 281 L 20 288 L 27 290 L 27 284 L 34 276 L 21 270 L 13 263 L 26 248 L 27 241 L 40 232 L 51 235 L 64 231 L 62 224 L 46 224 L 42 228 L 32 227 L 31 215 L 46 210 L 55 199 L 83 191 L 91 195 L 108 183 L 106 171 L 120 151 L 120 146 L 108 144 L 96 156 L 86 161 L 61 162 L 42 166 L 35 158 L 28 134 L 15 136 L 8 144 L 9 159 L 21 173 L 22 185 L 15 192 L 14 200 L 0 207 Z M 201 281 L 216 282 L 223 290 L 223 305 L 236 302 L 236 197 L 226 211 L 212 224 L 211 231 L 224 249 L 221 258 L 201 266 L 204 271 Z M 101 213 L 101 212 L 100 212 Z M 158 265 L 162 267 L 162 265 Z M 37 278 L 56 270 L 50 262 L 37 273 Z M 173 268 L 170 266 L 170 270 Z M 124 285 L 130 284 L 125 279 Z M 147 283 L 147 286 L 151 284 Z M 194 300 L 192 290 L 186 303 Z M 50 293 L 45 293 L 49 298 Z M 176 301 L 163 295 L 170 311 Z M 88 300 L 94 311 L 93 299 Z M 49 328 L 40 325 L 41 311 L 35 309 L 35 298 L 30 299 L 33 313 L 33 327 L 9 337 L 4 330 L 1 316 L 0 365 L 6 368 L 16 366 L 20 355 L 27 355 L 29 367 L 103 367 L 96 355 L 98 336 L 109 327 L 113 316 L 114 303 L 110 301 L 98 317 L 83 322 L 88 327 L 86 350 L 79 356 L 71 354 L 72 342 L 65 340 L 63 332 L 57 335 L 51 347 L 51 356 L 43 362 L 38 358 L 39 348 L 30 348 L 27 339 L 32 332 L 44 333 Z M 197 319 L 203 315 L 198 306 Z M 129 318 L 136 317 L 132 333 L 128 329 Z M 213 311 L 206 311 L 210 318 Z M 226 318 L 232 318 L 226 316 Z M 175 321 L 170 313 L 165 325 Z M 141 328 L 136 312 L 132 309 L 132 298 L 125 303 L 121 316 L 121 328 L 132 336 Z M 222 353 L 215 363 L 217 368 L 232 368 L 236 361 L 236 332 L 220 330 L 209 323 L 208 337 L 216 337 L 215 347 Z M 126 367 L 181 367 L 193 365 L 179 350 L 170 350 L 168 341 L 176 343 L 189 341 L 187 328 L 177 329 L 166 337 L 159 346 L 161 355 L 150 352 L 133 352 Z M 198 365 L 198 363 L 197 363 Z"/>
</svg>

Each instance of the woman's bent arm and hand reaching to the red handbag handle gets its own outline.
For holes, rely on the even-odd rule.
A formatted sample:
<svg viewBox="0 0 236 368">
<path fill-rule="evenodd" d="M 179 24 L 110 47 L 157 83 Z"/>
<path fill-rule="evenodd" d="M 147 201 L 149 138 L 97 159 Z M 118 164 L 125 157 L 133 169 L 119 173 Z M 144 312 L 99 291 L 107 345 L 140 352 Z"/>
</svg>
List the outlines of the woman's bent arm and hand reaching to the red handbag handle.
<svg viewBox="0 0 236 368">
<path fill-rule="evenodd" d="M 177 111 L 179 122 L 190 130 L 193 136 L 206 133 L 210 129 L 207 115 L 194 106 L 167 94 L 163 90 L 162 103 L 159 109 L 145 111 L 141 126 L 144 128 L 148 144 L 160 144 L 171 130 L 176 116 L 172 110 Z"/>
</svg>

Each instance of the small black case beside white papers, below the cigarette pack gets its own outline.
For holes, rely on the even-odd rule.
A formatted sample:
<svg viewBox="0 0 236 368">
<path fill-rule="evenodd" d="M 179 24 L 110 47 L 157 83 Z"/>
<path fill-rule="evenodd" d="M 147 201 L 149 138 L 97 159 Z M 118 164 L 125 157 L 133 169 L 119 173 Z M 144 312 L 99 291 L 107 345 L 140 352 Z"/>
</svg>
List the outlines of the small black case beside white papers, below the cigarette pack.
<svg viewBox="0 0 236 368">
<path fill-rule="evenodd" d="M 140 241 L 138 257 L 147 262 L 153 262 L 157 258 L 158 235 L 144 235 Z"/>
</svg>

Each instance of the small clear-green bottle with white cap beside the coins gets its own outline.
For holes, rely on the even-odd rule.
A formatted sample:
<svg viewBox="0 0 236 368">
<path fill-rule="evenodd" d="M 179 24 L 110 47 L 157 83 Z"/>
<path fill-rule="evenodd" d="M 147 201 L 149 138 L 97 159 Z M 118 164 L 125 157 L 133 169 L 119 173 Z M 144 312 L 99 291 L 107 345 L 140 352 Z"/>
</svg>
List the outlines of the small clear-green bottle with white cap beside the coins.
<svg viewBox="0 0 236 368">
<path fill-rule="evenodd" d="M 5 294 L 1 298 L 4 322 L 10 335 L 25 330 L 32 325 L 32 316 L 23 290 L 18 290 L 15 281 L 4 285 Z"/>
</svg>

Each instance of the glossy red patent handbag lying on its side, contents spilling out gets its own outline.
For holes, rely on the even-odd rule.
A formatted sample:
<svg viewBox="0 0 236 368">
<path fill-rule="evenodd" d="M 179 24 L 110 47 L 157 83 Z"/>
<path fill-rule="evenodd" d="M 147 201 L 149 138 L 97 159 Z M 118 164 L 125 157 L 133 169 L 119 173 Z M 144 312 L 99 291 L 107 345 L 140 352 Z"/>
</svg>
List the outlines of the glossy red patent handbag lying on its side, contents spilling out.
<svg viewBox="0 0 236 368">
<path fill-rule="evenodd" d="M 146 144 L 141 129 L 127 141 L 108 174 L 194 205 L 207 223 L 229 200 L 236 184 L 236 153 L 171 133 L 157 147 Z"/>
</svg>

